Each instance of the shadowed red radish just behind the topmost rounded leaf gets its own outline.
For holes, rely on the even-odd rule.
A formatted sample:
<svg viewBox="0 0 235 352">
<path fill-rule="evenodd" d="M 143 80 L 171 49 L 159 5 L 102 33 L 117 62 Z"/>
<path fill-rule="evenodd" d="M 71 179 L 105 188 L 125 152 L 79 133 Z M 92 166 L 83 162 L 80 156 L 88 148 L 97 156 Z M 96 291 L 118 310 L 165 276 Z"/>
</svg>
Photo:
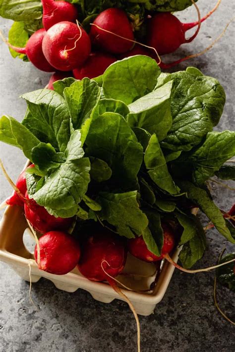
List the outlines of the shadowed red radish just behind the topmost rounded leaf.
<svg viewBox="0 0 235 352">
<path fill-rule="evenodd" d="M 76 79 L 98 77 L 115 61 L 116 57 L 108 53 L 92 52 L 82 66 L 73 70 L 73 75 Z"/>
</svg>

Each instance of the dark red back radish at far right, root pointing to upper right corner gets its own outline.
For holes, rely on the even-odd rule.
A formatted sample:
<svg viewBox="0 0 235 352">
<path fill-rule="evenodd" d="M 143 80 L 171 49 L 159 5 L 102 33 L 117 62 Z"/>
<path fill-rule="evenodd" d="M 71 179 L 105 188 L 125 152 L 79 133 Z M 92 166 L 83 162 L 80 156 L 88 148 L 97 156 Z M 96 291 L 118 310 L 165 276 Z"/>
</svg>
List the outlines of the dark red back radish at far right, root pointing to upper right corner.
<svg viewBox="0 0 235 352">
<path fill-rule="evenodd" d="M 171 12 L 156 13 L 147 23 L 148 46 L 157 50 L 159 55 L 164 55 L 175 51 L 181 44 L 190 43 L 197 36 L 200 23 L 205 21 L 216 10 L 220 1 L 206 16 L 199 21 L 191 23 L 181 23 Z M 194 5 L 196 6 L 195 3 Z M 197 11 L 199 11 L 198 8 Z M 196 32 L 186 39 L 185 32 L 195 26 L 198 26 Z"/>
</svg>

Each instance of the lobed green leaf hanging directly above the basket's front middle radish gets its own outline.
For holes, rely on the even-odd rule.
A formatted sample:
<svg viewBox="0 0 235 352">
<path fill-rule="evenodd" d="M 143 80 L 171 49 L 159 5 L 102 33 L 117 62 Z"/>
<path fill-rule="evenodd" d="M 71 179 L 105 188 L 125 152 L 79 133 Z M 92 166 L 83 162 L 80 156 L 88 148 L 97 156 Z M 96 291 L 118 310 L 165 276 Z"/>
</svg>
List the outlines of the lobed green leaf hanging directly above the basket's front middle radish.
<svg viewBox="0 0 235 352">
<path fill-rule="evenodd" d="M 119 194 L 100 192 L 97 201 L 102 206 L 100 218 L 115 226 L 120 236 L 140 236 L 148 226 L 147 216 L 139 208 L 137 191 Z"/>
</svg>

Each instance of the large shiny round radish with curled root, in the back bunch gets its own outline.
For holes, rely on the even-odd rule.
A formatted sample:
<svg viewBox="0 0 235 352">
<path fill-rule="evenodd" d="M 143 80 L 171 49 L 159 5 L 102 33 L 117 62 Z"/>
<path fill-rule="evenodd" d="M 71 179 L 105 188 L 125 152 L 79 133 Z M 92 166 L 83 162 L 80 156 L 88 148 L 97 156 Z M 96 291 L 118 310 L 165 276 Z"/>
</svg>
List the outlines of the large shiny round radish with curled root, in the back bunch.
<svg viewBox="0 0 235 352">
<path fill-rule="evenodd" d="M 87 33 L 68 21 L 54 24 L 43 39 L 43 53 L 59 71 L 71 71 L 83 64 L 91 51 Z"/>
</svg>

